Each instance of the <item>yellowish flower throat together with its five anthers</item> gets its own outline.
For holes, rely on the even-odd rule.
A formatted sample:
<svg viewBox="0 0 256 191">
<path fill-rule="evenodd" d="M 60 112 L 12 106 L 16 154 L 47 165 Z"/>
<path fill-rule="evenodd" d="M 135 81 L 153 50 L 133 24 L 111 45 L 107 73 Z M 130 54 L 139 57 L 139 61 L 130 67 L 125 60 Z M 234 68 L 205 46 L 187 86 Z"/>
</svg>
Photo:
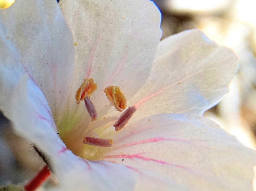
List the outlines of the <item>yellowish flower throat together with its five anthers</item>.
<svg viewBox="0 0 256 191">
<path fill-rule="evenodd" d="M 102 154 L 108 152 L 108 148 L 114 144 L 111 139 L 113 130 L 119 131 L 124 128 L 136 111 L 136 107 L 131 106 L 120 117 L 97 119 L 97 110 L 90 100 L 90 96 L 96 89 L 97 84 L 94 83 L 94 79 L 90 78 L 84 79 L 84 82 L 76 92 L 76 103 L 80 104 L 81 101 L 84 101 L 86 110 L 90 115 L 90 119 L 85 119 L 83 122 L 83 124 L 86 124 L 86 128 L 76 127 L 72 129 L 72 132 L 60 133 L 69 150 L 77 156 L 90 160 L 102 159 Z M 117 111 L 122 112 L 126 108 L 126 98 L 120 87 L 109 86 L 104 91 Z M 81 125 L 78 126 L 81 127 Z"/>
</svg>

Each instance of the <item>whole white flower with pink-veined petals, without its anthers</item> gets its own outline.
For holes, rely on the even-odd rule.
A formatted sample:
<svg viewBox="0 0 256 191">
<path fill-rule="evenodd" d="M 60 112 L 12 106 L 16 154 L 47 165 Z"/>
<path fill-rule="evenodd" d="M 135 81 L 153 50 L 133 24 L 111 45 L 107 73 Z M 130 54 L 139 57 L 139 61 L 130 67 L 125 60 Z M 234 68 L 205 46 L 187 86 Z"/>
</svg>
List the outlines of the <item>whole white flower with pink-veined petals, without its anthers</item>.
<svg viewBox="0 0 256 191">
<path fill-rule="evenodd" d="M 159 43 L 160 13 L 148 0 L 59 5 L 17 0 L 0 12 L 0 108 L 46 156 L 60 190 L 252 189 L 256 153 L 202 117 L 228 92 L 232 51 L 198 30 Z M 84 78 L 98 84 L 93 122 L 75 99 Z M 110 85 L 137 108 L 118 132 Z M 113 145 L 83 144 L 86 136 Z"/>
</svg>

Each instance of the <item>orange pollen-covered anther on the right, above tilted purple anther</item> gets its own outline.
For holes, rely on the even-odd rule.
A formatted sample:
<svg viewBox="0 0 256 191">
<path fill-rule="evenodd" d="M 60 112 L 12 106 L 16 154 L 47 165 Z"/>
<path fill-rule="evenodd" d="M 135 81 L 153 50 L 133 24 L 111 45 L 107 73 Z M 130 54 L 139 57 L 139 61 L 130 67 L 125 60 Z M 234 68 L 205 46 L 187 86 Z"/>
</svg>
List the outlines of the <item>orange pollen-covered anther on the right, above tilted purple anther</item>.
<svg viewBox="0 0 256 191">
<path fill-rule="evenodd" d="M 118 111 L 122 111 L 126 108 L 126 98 L 118 86 L 106 87 L 105 93 L 110 103 L 112 103 Z"/>
</svg>

